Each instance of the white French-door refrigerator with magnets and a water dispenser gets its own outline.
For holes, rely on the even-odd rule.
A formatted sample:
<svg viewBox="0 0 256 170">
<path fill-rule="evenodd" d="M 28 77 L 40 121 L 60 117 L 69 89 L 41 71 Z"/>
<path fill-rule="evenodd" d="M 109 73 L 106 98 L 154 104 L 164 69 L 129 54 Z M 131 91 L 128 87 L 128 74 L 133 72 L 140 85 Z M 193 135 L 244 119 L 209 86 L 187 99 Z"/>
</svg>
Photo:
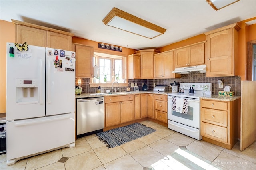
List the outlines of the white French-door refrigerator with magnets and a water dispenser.
<svg viewBox="0 0 256 170">
<path fill-rule="evenodd" d="M 7 43 L 7 165 L 75 146 L 75 53 Z"/>
</svg>

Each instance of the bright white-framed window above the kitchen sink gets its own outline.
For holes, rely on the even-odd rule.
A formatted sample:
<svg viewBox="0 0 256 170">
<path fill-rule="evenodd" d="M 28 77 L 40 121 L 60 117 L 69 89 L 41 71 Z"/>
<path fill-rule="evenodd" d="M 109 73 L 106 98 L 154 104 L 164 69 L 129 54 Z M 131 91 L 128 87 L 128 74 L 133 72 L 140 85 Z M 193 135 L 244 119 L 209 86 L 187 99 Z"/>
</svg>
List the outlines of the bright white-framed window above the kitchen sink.
<svg viewBox="0 0 256 170">
<path fill-rule="evenodd" d="M 119 57 L 119 56 L 118 56 Z M 94 55 L 94 65 L 98 65 L 98 76 L 100 83 L 112 83 L 114 81 L 122 82 L 124 78 L 123 65 L 124 59 L 112 57 L 101 57 Z"/>
</svg>

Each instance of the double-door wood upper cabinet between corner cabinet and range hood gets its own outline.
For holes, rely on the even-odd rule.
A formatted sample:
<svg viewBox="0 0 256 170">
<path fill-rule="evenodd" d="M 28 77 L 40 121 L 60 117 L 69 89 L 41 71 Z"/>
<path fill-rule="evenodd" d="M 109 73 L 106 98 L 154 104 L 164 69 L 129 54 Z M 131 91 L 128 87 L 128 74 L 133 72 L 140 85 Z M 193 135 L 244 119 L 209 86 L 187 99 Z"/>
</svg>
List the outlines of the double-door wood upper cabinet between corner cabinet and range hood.
<svg viewBox="0 0 256 170">
<path fill-rule="evenodd" d="M 174 71 L 174 51 L 154 55 L 154 78 L 180 78 Z"/>
</svg>

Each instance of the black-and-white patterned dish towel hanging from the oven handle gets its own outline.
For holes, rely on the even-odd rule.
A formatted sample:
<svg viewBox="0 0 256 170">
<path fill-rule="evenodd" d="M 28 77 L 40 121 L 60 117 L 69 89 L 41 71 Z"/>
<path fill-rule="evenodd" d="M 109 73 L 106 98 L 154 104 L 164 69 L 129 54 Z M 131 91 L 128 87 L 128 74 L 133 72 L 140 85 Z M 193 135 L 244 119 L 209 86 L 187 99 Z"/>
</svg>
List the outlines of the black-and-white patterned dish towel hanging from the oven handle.
<svg viewBox="0 0 256 170">
<path fill-rule="evenodd" d="M 180 113 L 187 114 L 188 112 L 188 99 L 180 97 L 172 97 L 172 110 Z"/>
</svg>

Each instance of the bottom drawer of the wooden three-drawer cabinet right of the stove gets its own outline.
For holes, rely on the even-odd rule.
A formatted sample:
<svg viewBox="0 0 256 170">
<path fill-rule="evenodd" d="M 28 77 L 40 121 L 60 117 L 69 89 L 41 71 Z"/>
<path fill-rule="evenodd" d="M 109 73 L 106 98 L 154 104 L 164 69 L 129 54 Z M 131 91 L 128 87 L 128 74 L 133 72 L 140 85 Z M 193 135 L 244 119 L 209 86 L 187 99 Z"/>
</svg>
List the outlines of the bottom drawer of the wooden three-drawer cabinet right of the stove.
<svg viewBox="0 0 256 170">
<path fill-rule="evenodd" d="M 201 123 L 201 135 L 212 138 L 214 140 L 218 140 L 223 143 L 228 142 L 228 136 L 227 136 L 227 128 L 226 127 L 220 127 L 217 125 L 212 125 L 210 123 Z"/>
</svg>

